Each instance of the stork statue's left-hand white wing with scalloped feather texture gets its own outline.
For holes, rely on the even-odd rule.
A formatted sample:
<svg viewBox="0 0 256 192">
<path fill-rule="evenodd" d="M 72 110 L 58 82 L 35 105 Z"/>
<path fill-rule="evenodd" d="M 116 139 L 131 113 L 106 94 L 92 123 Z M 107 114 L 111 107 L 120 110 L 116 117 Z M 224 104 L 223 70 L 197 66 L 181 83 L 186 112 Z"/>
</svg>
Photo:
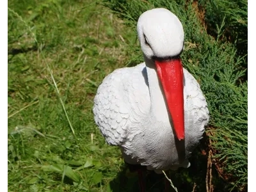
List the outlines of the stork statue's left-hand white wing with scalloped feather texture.
<svg viewBox="0 0 256 192">
<path fill-rule="evenodd" d="M 122 145 L 138 134 L 136 122 L 147 110 L 149 100 L 143 68 L 145 64 L 117 69 L 104 78 L 97 90 L 94 119 L 109 145 Z"/>
</svg>

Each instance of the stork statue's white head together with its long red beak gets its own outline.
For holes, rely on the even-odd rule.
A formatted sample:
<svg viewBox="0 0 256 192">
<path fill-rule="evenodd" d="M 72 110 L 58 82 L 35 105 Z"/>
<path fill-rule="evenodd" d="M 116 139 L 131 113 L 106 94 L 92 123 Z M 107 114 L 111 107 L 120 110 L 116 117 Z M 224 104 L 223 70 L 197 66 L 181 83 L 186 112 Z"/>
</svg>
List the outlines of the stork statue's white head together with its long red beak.
<svg viewBox="0 0 256 192">
<path fill-rule="evenodd" d="M 183 68 L 179 57 L 184 48 L 182 24 L 169 10 L 156 8 L 141 14 L 137 31 L 144 56 L 156 65 L 175 134 L 183 140 Z"/>
</svg>

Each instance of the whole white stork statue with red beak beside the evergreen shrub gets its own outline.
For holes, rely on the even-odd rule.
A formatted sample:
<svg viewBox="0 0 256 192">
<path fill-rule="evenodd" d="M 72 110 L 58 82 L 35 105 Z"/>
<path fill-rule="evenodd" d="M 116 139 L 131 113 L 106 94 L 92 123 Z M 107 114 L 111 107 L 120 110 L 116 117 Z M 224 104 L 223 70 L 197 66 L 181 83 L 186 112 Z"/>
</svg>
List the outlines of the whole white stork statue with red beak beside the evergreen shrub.
<svg viewBox="0 0 256 192">
<path fill-rule="evenodd" d="M 182 24 L 155 8 L 140 16 L 137 31 L 145 62 L 105 77 L 94 99 L 95 122 L 126 163 L 157 173 L 188 168 L 209 111 L 200 85 L 182 67 Z"/>
</svg>

